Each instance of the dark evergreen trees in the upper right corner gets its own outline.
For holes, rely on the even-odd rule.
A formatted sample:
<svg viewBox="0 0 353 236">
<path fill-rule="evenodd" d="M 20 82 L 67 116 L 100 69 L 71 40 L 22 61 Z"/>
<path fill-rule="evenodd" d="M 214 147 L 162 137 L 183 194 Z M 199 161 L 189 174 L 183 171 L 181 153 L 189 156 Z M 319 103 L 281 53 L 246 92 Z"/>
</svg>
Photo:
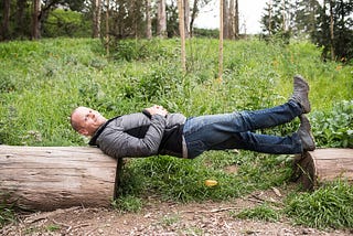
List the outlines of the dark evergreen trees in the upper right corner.
<svg viewBox="0 0 353 236">
<path fill-rule="evenodd" d="M 269 0 L 261 18 L 267 36 L 310 39 L 323 57 L 353 57 L 353 0 Z"/>
</svg>

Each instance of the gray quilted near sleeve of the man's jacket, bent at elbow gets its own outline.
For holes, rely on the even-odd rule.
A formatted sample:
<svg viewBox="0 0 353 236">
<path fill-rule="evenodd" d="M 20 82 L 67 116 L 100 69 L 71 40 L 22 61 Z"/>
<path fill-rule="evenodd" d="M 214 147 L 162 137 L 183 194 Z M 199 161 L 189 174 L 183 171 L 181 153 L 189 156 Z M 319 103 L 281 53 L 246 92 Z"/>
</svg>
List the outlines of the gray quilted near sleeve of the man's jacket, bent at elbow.
<svg viewBox="0 0 353 236">
<path fill-rule="evenodd" d="M 151 124 L 143 138 L 128 135 L 120 128 L 106 128 L 99 140 L 99 148 L 113 158 L 149 157 L 158 154 L 165 128 L 165 118 L 160 115 L 151 117 Z"/>
</svg>

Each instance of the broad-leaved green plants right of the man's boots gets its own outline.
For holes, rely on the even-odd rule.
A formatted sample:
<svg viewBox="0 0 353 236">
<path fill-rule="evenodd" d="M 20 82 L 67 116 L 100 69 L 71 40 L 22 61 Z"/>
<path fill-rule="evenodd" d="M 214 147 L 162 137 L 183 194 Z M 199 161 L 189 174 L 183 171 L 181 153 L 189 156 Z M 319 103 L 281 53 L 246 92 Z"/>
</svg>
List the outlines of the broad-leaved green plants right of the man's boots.
<svg viewBox="0 0 353 236">
<path fill-rule="evenodd" d="M 353 148 L 353 100 L 336 103 L 331 111 L 314 111 L 310 117 L 318 146 Z"/>
</svg>

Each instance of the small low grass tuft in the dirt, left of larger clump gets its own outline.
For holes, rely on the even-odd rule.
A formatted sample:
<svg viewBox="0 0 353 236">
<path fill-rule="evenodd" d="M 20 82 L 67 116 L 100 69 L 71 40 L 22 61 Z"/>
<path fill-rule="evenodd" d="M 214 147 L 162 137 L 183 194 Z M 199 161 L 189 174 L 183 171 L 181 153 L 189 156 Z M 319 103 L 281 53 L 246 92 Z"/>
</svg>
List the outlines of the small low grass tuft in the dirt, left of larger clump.
<svg viewBox="0 0 353 236">
<path fill-rule="evenodd" d="M 268 204 L 264 203 L 254 208 L 243 210 L 240 213 L 235 214 L 235 217 L 243 219 L 259 219 L 265 222 L 277 222 L 280 218 L 280 213 L 271 208 Z"/>
</svg>

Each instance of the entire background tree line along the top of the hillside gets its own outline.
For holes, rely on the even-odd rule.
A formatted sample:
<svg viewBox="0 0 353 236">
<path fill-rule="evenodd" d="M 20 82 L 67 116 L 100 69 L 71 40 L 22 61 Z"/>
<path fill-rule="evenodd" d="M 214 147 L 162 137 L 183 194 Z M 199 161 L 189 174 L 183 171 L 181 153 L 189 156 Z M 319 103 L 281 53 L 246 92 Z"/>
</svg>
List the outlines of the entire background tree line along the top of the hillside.
<svg viewBox="0 0 353 236">
<path fill-rule="evenodd" d="M 203 7 L 217 0 L 3 0 L 0 40 L 56 36 L 110 39 L 179 36 L 178 1 L 183 1 L 185 36 L 217 36 L 194 28 Z M 238 0 L 223 0 L 223 36 L 239 39 Z M 353 57 L 353 0 L 267 0 L 265 39 L 310 39 L 323 56 Z"/>
</svg>

